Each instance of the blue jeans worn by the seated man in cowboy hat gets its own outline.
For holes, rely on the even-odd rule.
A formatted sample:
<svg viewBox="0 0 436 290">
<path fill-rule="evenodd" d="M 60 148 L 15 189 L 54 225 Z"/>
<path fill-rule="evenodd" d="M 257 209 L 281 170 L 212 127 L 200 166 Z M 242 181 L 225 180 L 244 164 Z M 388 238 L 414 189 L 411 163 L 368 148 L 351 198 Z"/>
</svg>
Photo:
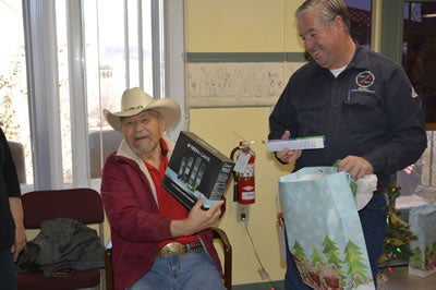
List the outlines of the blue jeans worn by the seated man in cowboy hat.
<svg viewBox="0 0 436 290">
<path fill-rule="evenodd" d="M 126 290 L 223 290 L 221 275 L 206 251 L 158 257 L 152 269 Z"/>
</svg>

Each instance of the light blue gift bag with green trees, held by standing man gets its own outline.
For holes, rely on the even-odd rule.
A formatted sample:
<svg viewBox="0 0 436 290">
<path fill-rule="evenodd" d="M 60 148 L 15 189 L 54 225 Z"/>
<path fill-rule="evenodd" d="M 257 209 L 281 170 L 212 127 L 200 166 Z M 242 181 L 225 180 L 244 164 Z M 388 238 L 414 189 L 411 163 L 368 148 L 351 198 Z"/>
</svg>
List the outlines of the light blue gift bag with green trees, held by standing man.
<svg viewBox="0 0 436 290">
<path fill-rule="evenodd" d="M 336 167 L 306 167 L 279 180 L 289 251 L 314 289 L 375 289 L 350 183 Z"/>
</svg>

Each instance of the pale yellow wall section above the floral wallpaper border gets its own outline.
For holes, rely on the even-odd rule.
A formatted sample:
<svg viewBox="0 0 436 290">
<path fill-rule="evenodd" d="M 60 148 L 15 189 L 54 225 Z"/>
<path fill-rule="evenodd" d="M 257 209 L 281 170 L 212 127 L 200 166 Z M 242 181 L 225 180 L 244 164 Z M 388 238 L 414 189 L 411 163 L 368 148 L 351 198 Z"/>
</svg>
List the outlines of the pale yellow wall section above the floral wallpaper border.
<svg viewBox="0 0 436 290">
<path fill-rule="evenodd" d="M 302 0 L 186 0 L 189 52 L 299 52 L 293 11 Z"/>
</svg>

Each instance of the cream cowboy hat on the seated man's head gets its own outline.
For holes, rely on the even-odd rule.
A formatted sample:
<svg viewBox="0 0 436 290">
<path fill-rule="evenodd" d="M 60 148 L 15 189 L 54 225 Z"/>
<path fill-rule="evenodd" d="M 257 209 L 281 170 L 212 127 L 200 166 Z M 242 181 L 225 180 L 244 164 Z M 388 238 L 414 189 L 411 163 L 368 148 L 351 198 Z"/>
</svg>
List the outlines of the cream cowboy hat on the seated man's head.
<svg viewBox="0 0 436 290">
<path fill-rule="evenodd" d="M 177 101 L 169 98 L 154 99 L 140 87 L 124 90 L 121 97 L 121 111 L 110 112 L 104 109 L 102 114 L 113 130 L 121 132 L 121 117 L 132 117 L 145 110 L 159 112 L 164 118 L 166 129 L 175 125 L 180 119 L 180 106 Z"/>
</svg>

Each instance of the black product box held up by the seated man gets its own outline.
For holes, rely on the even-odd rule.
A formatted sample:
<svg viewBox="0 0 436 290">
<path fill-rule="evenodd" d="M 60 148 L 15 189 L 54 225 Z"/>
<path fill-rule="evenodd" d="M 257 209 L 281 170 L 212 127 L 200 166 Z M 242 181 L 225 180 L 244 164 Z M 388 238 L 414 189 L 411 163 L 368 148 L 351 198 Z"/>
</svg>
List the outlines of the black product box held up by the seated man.
<svg viewBox="0 0 436 290">
<path fill-rule="evenodd" d="M 203 193 L 208 208 L 221 200 L 234 162 L 192 132 L 182 131 L 165 172 L 162 186 L 191 209 Z"/>
</svg>

